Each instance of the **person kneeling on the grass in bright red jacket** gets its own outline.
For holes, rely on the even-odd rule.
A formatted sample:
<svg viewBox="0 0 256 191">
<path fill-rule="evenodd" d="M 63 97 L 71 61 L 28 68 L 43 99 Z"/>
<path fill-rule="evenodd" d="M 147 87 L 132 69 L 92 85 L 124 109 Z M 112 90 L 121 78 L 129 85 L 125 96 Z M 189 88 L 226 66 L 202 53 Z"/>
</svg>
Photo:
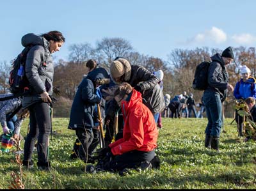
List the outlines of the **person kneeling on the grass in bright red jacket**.
<svg viewBox="0 0 256 191">
<path fill-rule="evenodd" d="M 124 82 L 114 96 L 124 117 L 123 138 L 102 149 L 100 156 L 108 158 L 108 162 L 97 167 L 118 172 L 126 168 L 150 169 L 152 161 L 157 160 L 158 165 L 154 166 L 155 162 L 153 167 L 159 168 L 159 158 L 155 156 L 158 130 L 152 112 L 142 102 L 141 93 Z"/>
</svg>

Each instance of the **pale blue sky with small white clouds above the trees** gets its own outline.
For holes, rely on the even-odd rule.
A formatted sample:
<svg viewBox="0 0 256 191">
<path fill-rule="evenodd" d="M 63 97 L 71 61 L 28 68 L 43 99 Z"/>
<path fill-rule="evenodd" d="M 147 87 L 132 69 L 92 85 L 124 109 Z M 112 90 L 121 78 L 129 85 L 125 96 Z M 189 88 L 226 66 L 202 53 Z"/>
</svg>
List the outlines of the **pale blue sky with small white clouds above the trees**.
<svg viewBox="0 0 256 191">
<path fill-rule="evenodd" d="M 141 54 L 166 60 L 173 49 L 229 45 L 255 47 L 254 0 L 44 0 L 0 2 L 0 63 L 22 50 L 26 33 L 58 30 L 66 43 L 57 59 L 68 59 L 74 43 L 104 37 L 128 40 Z"/>
</svg>

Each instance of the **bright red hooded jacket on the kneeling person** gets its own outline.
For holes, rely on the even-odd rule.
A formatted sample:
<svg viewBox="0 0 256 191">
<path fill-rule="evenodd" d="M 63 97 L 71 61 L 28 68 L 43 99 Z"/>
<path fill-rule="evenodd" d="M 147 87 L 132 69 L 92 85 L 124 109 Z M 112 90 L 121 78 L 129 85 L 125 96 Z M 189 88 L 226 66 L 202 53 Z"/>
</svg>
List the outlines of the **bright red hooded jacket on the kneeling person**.
<svg viewBox="0 0 256 191">
<path fill-rule="evenodd" d="M 133 89 L 131 99 L 121 102 L 124 117 L 123 138 L 109 144 L 113 155 L 128 151 L 152 151 L 157 147 L 158 130 L 152 112 L 142 103 L 141 93 Z"/>
</svg>

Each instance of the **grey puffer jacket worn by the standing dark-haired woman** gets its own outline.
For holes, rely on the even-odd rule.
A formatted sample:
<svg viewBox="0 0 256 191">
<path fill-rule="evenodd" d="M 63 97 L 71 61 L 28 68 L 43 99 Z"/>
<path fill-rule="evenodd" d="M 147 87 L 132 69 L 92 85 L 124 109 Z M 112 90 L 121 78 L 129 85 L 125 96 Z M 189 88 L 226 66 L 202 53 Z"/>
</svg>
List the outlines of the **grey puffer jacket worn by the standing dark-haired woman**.
<svg viewBox="0 0 256 191">
<path fill-rule="evenodd" d="M 26 59 L 25 72 L 31 89 L 31 93 L 23 98 L 22 107 L 26 108 L 35 102 L 42 102 L 40 94 L 44 91 L 52 95 L 54 66 L 50 44 L 44 37 L 29 33 L 22 37 L 21 42 L 24 47 L 34 45 Z"/>
</svg>

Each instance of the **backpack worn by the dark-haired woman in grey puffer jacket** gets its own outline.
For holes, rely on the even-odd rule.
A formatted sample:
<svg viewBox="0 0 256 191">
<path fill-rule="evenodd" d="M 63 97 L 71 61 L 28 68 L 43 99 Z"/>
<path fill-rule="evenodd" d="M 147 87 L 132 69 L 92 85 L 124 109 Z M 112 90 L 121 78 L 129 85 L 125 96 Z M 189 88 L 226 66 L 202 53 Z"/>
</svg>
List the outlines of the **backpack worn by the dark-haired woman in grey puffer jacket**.
<svg viewBox="0 0 256 191">
<path fill-rule="evenodd" d="M 25 74 L 26 58 L 32 46 L 25 47 L 12 63 L 9 75 L 10 92 L 15 94 L 24 93 L 29 89 L 29 81 Z"/>
</svg>

